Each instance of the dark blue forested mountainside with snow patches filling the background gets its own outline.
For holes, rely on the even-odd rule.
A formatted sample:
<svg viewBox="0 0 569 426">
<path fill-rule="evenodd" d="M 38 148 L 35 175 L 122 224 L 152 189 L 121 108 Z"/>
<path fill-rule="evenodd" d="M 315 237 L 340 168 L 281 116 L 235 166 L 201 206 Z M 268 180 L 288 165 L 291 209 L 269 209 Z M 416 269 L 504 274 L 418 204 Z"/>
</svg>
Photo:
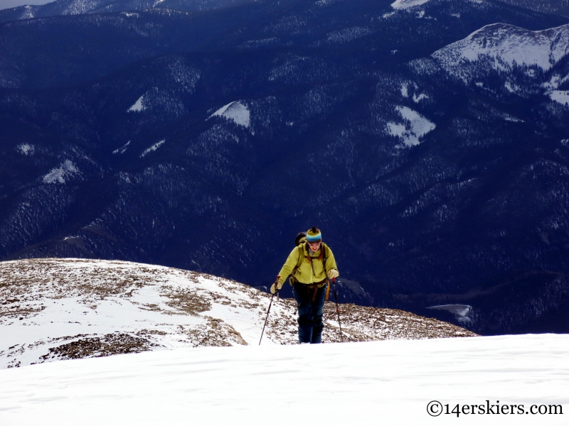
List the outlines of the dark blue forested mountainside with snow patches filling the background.
<svg viewBox="0 0 569 426">
<path fill-rule="evenodd" d="M 0 256 L 266 288 L 316 225 L 344 302 L 566 331 L 568 22 L 280 0 L 3 23 Z"/>
</svg>

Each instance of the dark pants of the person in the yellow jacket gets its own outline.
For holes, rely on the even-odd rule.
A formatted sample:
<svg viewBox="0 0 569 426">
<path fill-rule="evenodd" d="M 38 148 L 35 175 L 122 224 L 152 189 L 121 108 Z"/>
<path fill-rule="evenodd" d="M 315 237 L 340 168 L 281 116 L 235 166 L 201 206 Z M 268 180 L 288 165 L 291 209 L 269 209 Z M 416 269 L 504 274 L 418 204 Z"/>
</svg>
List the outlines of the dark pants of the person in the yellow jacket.
<svg viewBox="0 0 569 426">
<path fill-rule="evenodd" d="M 324 297 L 326 285 L 317 289 L 316 297 L 312 302 L 313 288 L 295 283 L 292 294 L 297 300 L 298 308 L 298 341 L 299 343 L 322 343 L 322 315 L 324 314 Z"/>
</svg>

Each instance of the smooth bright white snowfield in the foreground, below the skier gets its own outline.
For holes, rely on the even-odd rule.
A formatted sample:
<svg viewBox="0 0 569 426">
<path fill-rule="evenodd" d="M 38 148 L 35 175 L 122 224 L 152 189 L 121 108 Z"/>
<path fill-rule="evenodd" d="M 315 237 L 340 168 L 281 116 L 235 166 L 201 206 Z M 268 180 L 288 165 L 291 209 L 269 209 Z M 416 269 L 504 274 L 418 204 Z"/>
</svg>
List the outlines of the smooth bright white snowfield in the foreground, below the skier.
<svg viewBox="0 0 569 426">
<path fill-rule="evenodd" d="M 60 361 L 0 371 L 0 424 L 568 425 L 568 356 L 568 336 L 541 334 Z M 523 414 L 457 418 L 446 404 Z"/>
</svg>

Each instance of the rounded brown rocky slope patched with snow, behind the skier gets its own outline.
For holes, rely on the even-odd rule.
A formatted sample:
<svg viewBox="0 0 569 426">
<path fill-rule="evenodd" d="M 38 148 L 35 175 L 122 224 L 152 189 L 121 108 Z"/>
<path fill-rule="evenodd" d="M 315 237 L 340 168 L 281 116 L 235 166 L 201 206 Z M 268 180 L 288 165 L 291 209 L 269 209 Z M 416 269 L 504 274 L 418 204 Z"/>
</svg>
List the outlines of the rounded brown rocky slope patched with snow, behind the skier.
<svg viewBox="0 0 569 426">
<path fill-rule="evenodd" d="M 184 346 L 257 345 L 270 295 L 235 281 L 121 261 L 0 263 L 0 368 Z M 398 310 L 342 305 L 344 339 L 472 336 Z M 339 342 L 326 305 L 325 342 Z M 263 344 L 297 342 L 293 300 L 273 302 Z"/>
</svg>

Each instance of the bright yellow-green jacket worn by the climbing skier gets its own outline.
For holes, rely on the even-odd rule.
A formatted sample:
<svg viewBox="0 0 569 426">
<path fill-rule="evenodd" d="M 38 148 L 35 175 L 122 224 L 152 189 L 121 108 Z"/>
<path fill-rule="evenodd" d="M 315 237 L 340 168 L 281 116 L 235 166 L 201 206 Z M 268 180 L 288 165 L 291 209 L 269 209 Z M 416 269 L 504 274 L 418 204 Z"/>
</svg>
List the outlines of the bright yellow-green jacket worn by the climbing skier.
<svg viewBox="0 0 569 426">
<path fill-rule="evenodd" d="M 300 244 L 302 246 L 302 251 L 304 253 L 304 261 L 300 264 L 297 272 L 294 274 L 294 278 L 296 278 L 299 283 L 303 284 L 314 284 L 320 283 L 318 286 L 322 287 L 326 284 L 324 279 L 326 278 L 326 274 L 324 273 L 324 265 L 322 261 L 324 260 L 324 256 L 321 256 L 322 246 L 324 243 L 320 244 L 320 249 L 316 253 L 310 253 L 308 251 L 308 246 L 306 243 Z M 338 269 L 336 266 L 336 260 L 334 259 L 334 253 L 328 247 L 326 251 L 328 258 L 326 258 L 326 271 L 330 271 L 331 269 Z M 279 283 L 285 283 L 287 277 L 292 273 L 292 270 L 296 268 L 297 261 L 299 256 L 299 249 L 298 247 L 294 247 L 287 258 L 287 261 L 282 266 L 280 270 L 280 278 Z M 312 272 L 312 267 L 310 265 L 309 256 L 312 257 L 312 266 L 314 266 L 314 272 Z"/>
</svg>

